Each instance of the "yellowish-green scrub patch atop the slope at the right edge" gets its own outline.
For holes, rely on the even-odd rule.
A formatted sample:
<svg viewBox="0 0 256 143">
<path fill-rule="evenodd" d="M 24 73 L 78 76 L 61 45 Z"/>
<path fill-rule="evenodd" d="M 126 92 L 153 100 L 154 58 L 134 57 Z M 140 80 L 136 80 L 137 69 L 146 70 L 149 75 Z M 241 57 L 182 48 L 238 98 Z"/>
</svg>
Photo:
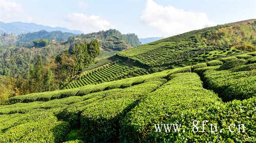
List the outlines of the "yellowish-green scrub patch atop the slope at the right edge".
<svg viewBox="0 0 256 143">
<path fill-rule="evenodd" d="M 255 51 L 256 30 L 253 21 L 231 23 L 216 31 L 208 31 L 199 35 L 210 45 L 231 45 L 233 48 L 246 51 Z"/>
</svg>

